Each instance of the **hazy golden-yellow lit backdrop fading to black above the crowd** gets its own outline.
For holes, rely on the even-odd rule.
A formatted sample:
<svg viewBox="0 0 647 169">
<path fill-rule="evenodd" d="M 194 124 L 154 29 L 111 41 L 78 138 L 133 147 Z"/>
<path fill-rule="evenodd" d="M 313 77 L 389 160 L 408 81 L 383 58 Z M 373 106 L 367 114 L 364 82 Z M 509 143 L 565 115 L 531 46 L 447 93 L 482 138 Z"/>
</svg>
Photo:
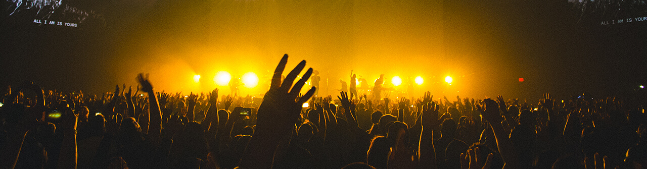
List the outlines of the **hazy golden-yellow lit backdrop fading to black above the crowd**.
<svg viewBox="0 0 647 169">
<path fill-rule="evenodd" d="M 0 85 L 98 93 L 147 72 L 160 90 L 199 92 L 220 70 L 267 80 L 283 54 L 329 78 L 329 94 L 351 70 L 371 82 L 421 75 L 418 91 L 448 98 L 628 95 L 647 85 L 647 21 L 600 25 L 609 17 L 581 20 L 566 1 L 112 2 L 100 11 L 105 26 L 3 15 Z"/>
</svg>

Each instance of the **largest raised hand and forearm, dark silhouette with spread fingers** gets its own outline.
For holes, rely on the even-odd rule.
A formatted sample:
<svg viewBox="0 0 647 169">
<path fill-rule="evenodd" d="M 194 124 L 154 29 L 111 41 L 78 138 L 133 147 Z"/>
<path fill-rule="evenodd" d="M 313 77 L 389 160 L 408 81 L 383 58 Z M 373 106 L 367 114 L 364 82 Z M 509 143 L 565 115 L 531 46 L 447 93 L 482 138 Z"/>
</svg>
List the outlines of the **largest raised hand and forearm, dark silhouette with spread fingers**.
<svg viewBox="0 0 647 169">
<path fill-rule="evenodd" d="M 241 159 L 241 168 L 272 167 L 272 157 L 276 146 L 281 141 L 289 139 L 295 124 L 300 123 L 299 116 L 302 104 L 314 94 L 316 88 L 313 87 L 298 101 L 295 100 L 305 81 L 313 74 L 313 69 L 309 68 L 303 74 L 303 77 L 292 86 L 296 76 L 305 67 L 305 60 L 301 61 L 296 68 L 286 75 L 283 83 L 281 83 L 281 74 L 283 74 L 287 59 L 288 55 L 283 55 L 279 65 L 274 70 L 270 90 L 265 93 L 263 102 L 258 108 L 256 131 L 252 136 L 252 140 L 248 143 L 243 159 Z"/>
</svg>

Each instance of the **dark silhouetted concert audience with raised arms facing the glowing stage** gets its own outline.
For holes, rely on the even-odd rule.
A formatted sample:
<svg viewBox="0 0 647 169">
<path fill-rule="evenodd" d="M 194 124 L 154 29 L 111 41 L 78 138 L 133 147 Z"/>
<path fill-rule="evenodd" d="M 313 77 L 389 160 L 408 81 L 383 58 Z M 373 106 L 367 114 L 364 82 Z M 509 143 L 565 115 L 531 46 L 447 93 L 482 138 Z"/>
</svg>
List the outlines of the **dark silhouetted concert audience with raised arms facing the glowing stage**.
<svg viewBox="0 0 647 169">
<path fill-rule="evenodd" d="M 358 95 L 351 75 L 350 94 L 319 97 L 316 86 L 300 94 L 313 75 L 308 68 L 297 80 L 305 61 L 281 77 L 287 60 L 262 99 L 159 92 L 143 74 L 137 88 L 101 96 L 10 86 L 0 167 L 647 167 L 647 116 L 615 97 L 391 100 L 380 94 L 383 75 L 372 94 Z"/>
</svg>

